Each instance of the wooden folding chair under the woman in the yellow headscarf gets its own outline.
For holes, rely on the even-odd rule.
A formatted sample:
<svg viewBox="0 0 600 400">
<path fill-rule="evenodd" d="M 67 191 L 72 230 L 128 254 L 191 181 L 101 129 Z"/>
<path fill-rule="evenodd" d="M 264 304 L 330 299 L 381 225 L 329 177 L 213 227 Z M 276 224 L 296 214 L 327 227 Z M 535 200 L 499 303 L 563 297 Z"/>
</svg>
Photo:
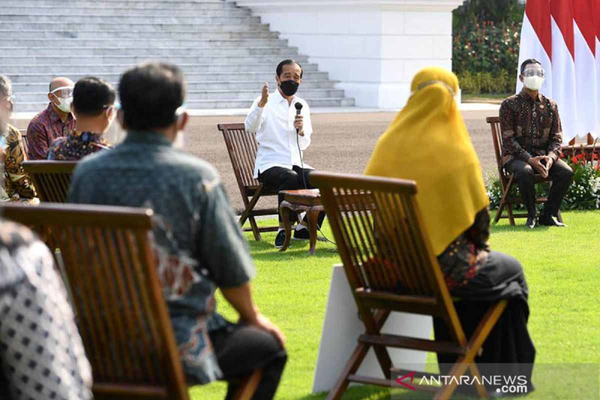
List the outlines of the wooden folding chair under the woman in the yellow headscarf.
<svg viewBox="0 0 600 400">
<path fill-rule="evenodd" d="M 316 172 L 311 182 L 321 199 L 334 233 L 350 289 L 365 333 L 350 356 L 328 399 L 340 399 L 350 382 L 391 387 L 392 371 L 398 376 L 409 370 L 393 369 L 388 347 L 408 348 L 458 356 L 449 375 L 481 375 L 475 356 L 506 307 L 506 300 L 490 306 L 471 338 L 466 338 L 416 203 L 416 183 L 400 179 Z M 392 311 L 443 318 L 451 341 L 434 341 L 383 334 L 381 328 Z M 385 379 L 357 375 L 359 366 L 373 348 Z M 431 374 L 427 374 L 431 375 Z M 415 374 L 418 376 L 418 372 Z M 421 374 L 422 376 L 422 374 Z M 446 386 L 413 384 L 416 390 L 448 399 L 456 380 Z M 479 396 L 487 398 L 483 385 Z"/>
</svg>

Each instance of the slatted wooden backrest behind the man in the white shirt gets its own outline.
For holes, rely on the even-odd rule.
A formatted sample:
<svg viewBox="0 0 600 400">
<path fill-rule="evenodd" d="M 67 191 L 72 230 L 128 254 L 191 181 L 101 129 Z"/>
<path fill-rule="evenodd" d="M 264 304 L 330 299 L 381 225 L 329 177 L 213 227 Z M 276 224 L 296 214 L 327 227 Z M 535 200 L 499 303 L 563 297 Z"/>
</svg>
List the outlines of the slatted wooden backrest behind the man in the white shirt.
<svg viewBox="0 0 600 400">
<path fill-rule="evenodd" d="M 256 135 L 248 133 L 244 124 L 239 123 L 218 124 L 217 128 L 223 133 L 233 173 L 242 195 L 260 187 L 260 182 L 253 178 L 256 152 L 259 148 Z"/>
</svg>

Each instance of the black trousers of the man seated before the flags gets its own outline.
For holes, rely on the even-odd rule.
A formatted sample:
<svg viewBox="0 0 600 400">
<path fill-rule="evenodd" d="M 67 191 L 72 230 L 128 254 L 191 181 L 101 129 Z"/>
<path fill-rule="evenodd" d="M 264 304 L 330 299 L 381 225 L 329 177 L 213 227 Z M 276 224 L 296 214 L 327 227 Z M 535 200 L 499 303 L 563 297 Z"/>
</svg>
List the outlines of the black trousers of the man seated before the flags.
<svg viewBox="0 0 600 400">
<path fill-rule="evenodd" d="M 530 216 L 535 216 L 535 170 L 522 160 L 509 161 L 505 168 L 508 172 L 515 174 L 515 180 L 527 213 Z M 552 186 L 542 214 L 556 216 L 559 212 L 560 203 L 573 181 L 573 170 L 565 161 L 559 158 L 550 168 L 548 178 L 552 180 Z"/>
</svg>

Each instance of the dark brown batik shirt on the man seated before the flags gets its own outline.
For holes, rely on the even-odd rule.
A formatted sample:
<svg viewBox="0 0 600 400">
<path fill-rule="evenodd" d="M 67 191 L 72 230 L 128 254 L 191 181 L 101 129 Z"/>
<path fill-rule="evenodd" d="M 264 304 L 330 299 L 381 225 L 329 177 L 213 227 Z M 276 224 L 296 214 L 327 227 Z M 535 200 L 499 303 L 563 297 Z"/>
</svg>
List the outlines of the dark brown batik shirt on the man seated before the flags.
<svg viewBox="0 0 600 400">
<path fill-rule="evenodd" d="M 500 130 L 504 165 L 515 159 L 527 162 L 539 155 L 547 155 L 554 161 L 560 157 L 562 126 L 558 106 L 542 94 L 533 99 L 523 89 L 503 101 Z"/>
</svg>

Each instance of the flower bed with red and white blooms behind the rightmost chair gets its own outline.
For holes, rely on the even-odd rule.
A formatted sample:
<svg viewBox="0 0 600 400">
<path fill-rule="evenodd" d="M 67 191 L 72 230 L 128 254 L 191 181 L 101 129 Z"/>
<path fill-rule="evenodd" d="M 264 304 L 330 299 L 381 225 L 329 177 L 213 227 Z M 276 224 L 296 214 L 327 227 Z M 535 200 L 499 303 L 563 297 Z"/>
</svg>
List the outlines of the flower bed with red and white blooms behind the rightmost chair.
<svg viewBox="0 0 600 400">
<path fill-rule="evenodd" d="M 589 153 L 576 150 L 575 154 L 561 155 L 573 170 L 573 183 L 569 187 L 562 202 L 562 209 L 567 210 L 598 210 L 600 209 L 600 164 L 598 151 Z M 502 199 L 502 188 L 498 178 L 488 179 L 488 196 L 490 207 L 497 208 Z M 548 185 L 536 185 L 538 196 L 548 196 Z M 518 197 L 518 187 L 515 183 L 511 190 L 512 197 Z M 524 209 L 523 204 L 513 205 L 513 209 Z"/>
</svg>

